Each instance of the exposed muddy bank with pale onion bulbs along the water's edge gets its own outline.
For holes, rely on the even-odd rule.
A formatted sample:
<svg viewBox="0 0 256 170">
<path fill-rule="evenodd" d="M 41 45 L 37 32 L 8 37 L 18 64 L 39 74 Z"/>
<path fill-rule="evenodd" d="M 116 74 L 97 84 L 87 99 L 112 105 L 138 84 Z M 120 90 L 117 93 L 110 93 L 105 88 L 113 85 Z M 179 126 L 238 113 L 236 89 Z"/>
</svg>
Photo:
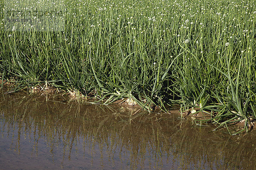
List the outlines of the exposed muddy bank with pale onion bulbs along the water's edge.
<svg viewBox="0 0 256 170">
<path fill-rule="evenodd" d="M 13 82 L 8 82 L 8 81 L 3 81 L 0 80 L 0 84 L 3 84 L 3 93 L 4 94 L 9 94 L 9 95 L 13 95 L 15 94 L 15 90 L 14 90 L 14 86 L 15 83 Z M 64 101 L 73 101 L 73 102 L 84 102 L 87 104 L 100 104 L 95 102 L 97 99 L 94 97 L 94 94 L 89 94 L 87 96 L 82 95 L 81 93 L 76 93 L 76 92 L 72 92 L 72 91 L 64 91 L 61 88 L 54 88 L 54 87 L 50 87 L 47 83 L 42 83 L 40 85 L 36 85 L 36 86 L 24 86 L 23 89 L 21 89 L 21 91 L 19 91 L 19 94 L 23 94 L 23 95 L 33 95 L 33 96 L 45 96 L 46 100 L 48 100 L 49 98 L 51 98 L 52 96 L 55 95 L 59 95 L 59 96 L 64 96 Z M 124 107 L 127 110 L 130 111 L 134 111 L 133 114 L 136 114 L 140 111 L 142 111 L 143 109 L 140 107 L 140 105 L 137 105 L 136 103 L 130 102 L 129 99 L 124 98 L 124 99 L 119 99 L 116 100 L 115 102 L 113 102 L 112 104 L 114 105 L 121 105 L 122 107 Z M 211 122 L 210 119 L 212 119 L 217 113 L 214 112 L 209 112 L 209 111 L 200 111 L 200 108 L 186 108 L 186 109 L 180 109 L 179 105 L 173 105 L 172 108 L 168 108 L 168 112 L 166 111 L 161 111 L 160 108 L 158 108 L 157 106 L 152 106 L 151 110 L 148 111 L 148 113 L 168 113 L 168 114 L 176 114 L 177 116 L 180 116 L 182 119 L 191 119 L 192 122 L 194 122 L 196 125 L 201 125 L 202 124 L 202 120 L 204 120 L 204 122 Z M 231 128 L 231 131 L 236 132 L 241 130 L 241 128 L 243 128 L 245 125 L 245 121 L 241 120 L 239 122 L 234 122 L 231 124 L 226 125 L 226 127 Z M 250 127 L 250 130 L 253 130 L 253 126 L 256 125 L 256 122 L 253 122 L 252 126 Z M 232 127 L 233 126 L 233 127 Z M 216 126 L 218 127 L 218 125 Z M 225 126 L 221 126 L 221 128 L 223 128 Z"/>
</svg>

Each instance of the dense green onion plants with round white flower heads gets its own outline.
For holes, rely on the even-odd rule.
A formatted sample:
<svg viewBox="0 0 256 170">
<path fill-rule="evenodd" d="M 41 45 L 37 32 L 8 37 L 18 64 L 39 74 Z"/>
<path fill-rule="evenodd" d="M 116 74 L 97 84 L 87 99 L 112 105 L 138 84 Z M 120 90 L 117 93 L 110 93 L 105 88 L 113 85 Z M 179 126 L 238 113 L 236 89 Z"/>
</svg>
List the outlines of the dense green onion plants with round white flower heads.
<svg viewBox="0 0 256 170">
<path fill-rule="evenodd" d="M 2 79 L 148 110 L 197 107 L 220 126 L 244 120 L 247 130 L 256 119 L 256 1 L 64 0 L 39 27 L 6 21 L 31 16 L 36 25 L 44 3 L 27 2 L 1 4 Z"/>
</svg>

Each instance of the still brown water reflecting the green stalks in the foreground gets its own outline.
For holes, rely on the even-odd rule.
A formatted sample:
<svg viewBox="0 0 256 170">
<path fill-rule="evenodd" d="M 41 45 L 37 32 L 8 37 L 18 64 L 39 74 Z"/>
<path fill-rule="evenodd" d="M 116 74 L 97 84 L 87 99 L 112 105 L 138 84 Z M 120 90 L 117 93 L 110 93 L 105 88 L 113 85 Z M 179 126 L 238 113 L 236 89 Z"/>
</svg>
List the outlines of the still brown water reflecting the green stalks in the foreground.
<svg viewBox="0 0 256 170">
<path fill-rule="evenodd" d="M 0 170 L 256 169 L 256 133 L 209 133 L 177 114 L 0 91 Z"/>
</svg>

